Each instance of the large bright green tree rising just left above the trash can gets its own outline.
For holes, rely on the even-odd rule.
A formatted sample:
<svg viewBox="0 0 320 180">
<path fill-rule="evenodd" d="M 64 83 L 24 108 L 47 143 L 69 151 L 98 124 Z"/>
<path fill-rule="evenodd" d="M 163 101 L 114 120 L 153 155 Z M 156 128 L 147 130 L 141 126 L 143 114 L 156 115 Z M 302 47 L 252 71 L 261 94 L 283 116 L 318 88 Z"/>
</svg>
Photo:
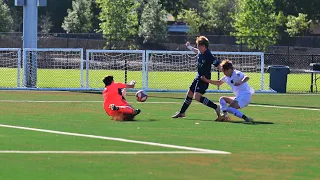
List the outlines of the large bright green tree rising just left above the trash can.
<svg viewBox="0 0 320 180">
<path fill-rule="evenodd" d="M 249 48 L 265 51 L 279 38 L 277 28 L 284 19 L 276 14 L 273 0 L 242 0 L 239 11 L 234 16 L 233 27 L 238 43 L 246 43 Z"/>
</svg>

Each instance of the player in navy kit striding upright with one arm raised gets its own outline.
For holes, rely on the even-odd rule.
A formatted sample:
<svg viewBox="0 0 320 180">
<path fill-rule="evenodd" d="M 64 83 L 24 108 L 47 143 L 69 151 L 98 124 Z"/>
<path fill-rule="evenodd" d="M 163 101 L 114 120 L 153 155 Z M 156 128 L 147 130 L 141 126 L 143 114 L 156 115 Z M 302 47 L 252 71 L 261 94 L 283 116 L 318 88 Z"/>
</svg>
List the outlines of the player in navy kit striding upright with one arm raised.
<svg viewBox="0 0 320 180">
<path fill-rule="evenodd" d="M 208 98 L 203 97 L 203 94 L 206 93 L 206 90 L 209 87 L 209 83 L 201 80 L 201 76 L 205 76 L 207 79 L 211 79 L 211 65 L 218 67 L 220 61 L 217 60 L 212 54 L 211 51 L 208 49 L 209 40 L 204 37 L 200 36 L 196 40 L 197 48 L 193 48 L 190 46 L 190 43 L 187 42 L 186 46 L 188 49 L 192 50 L 193 52 L 198 54 L 198 73 L 196 78 L 191 83 L 189 90 L 187 92 L 187 97 L 184 100 L 184 103 L 179 112 L 172 116 L 172 118 L 183 118 L 186 116 L 185 112 L 188 109 L 189 105 L 194 98 L 198 102 L 213 108 L 217 113 L 218 118 L 220 119 L 220 107 L 217 106 L 215 103 L 210 101 Z"/>
</svg>

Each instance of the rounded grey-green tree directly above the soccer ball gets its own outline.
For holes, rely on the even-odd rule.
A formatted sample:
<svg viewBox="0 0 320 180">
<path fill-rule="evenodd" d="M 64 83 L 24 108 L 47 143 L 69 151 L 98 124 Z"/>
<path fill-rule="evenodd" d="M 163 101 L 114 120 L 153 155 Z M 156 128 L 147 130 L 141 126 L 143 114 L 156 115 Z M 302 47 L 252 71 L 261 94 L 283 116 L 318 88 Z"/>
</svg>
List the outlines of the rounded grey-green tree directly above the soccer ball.
<svg viewBox="0 0 320 180">
<path fill-rule="evenodd" d="M 159 0 L 149 0 L 142 12 L 139 36 L 144 38 L 144 43 L 160 42 L 167 32 L 167 12 Z"/>
</svg>

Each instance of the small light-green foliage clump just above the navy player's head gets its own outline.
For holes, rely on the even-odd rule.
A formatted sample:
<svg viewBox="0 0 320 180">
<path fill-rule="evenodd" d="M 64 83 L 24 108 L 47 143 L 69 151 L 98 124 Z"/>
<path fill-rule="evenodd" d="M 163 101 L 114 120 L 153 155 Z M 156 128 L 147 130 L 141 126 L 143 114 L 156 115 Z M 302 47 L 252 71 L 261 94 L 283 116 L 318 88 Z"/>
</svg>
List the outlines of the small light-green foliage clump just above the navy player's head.
<svg viewBox="0 0 320 180">
<path fill-rule="evenodd" d="M 200 26 L 201 26 L 201 17 L 197 13 L 195 9 L 183 9 L 178 15 L 178 19 L 182 19 L 187 23 L 190 30 L 188 32 L 189 35 L 199 35 L 200 34 Z"/>
</svg>

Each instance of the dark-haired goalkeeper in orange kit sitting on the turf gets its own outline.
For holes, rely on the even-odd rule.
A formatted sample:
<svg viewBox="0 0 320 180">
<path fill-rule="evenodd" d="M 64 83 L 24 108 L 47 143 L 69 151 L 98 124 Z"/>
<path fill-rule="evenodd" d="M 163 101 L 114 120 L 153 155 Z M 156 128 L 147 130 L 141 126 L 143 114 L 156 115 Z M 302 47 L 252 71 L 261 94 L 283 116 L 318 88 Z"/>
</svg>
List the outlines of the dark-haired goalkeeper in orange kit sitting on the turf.
<svg viewBox="0 0 320 180">
<path fill-rule="evenodd" d="M 112 117 L 112 120 L 133 120 L 133 118 L 141 112 L 139 109 L 134 109 L 130 106 L 123 96 L 123 90 L 133 88 L 135 81 L 131 81 L 129 84 L 115 83 L 113 76 L 106 76 L 103 78 L 103 83 L 105 84 L 102 92 L 104 109 L 106 113 Z"/>
</svg>

